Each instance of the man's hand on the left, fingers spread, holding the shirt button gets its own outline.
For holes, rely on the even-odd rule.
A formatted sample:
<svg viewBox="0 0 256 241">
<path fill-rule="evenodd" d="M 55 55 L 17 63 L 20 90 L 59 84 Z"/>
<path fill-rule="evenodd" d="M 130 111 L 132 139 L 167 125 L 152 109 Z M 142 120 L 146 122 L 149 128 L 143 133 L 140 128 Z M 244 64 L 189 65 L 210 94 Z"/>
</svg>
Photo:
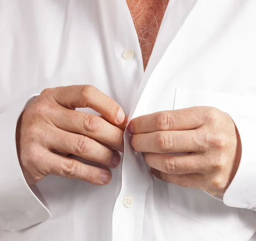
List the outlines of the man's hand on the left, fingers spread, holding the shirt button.
<svg viewBox="0 0 256 241">
<path fill-rule="evenodd" d="M 76 107 L 90 107 L 106 120 L 76 111 Z M 74 154 L 115 168 L 120 162 L 118 151 L 123 151 L 123 131 L 115 125 L 124 120 L 122 108 L 93 86 L 43 90 L 20 116 L 17 125 L 17 153 L 27 183 L 34 184 L 47 174 L 99 185 L 109 183 L 108 168 L 89 166 L 55 152 Z"/>
</svg>

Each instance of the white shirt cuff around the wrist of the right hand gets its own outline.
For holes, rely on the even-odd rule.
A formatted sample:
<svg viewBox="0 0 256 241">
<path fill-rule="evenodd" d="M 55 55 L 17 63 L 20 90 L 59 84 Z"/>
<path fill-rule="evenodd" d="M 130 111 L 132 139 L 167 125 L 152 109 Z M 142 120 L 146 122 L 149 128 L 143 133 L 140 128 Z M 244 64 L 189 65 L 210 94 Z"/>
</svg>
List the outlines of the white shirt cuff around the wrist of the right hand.
<svg viewBox="0 0 256 241">
<path fill-rule="evenodd" d="M 227 206 L 254 209 L 256 206 L 256 118 L 232 115 L 242 145 L 241 161 L 233 181 L 224 193 Z"/>
</svg>

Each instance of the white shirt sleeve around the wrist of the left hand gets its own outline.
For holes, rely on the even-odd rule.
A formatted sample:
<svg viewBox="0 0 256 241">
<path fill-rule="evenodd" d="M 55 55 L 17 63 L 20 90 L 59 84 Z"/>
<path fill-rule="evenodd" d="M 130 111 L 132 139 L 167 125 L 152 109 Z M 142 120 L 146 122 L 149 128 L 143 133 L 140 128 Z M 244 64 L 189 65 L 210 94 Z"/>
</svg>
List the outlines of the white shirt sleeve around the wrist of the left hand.
<svg viewBox="0 0 256 241">
<path fill-rule="evenodd" d="M 35 96 L 32 96 L 32 99 Z M 29 102 L 21 98 L 0 109 L 0 229 L 18 231 L 50 218 L 27 185 L 16 151 L 17 119 Z M 22 111 L 21 111 L 22 110 Z"/>
</svg>

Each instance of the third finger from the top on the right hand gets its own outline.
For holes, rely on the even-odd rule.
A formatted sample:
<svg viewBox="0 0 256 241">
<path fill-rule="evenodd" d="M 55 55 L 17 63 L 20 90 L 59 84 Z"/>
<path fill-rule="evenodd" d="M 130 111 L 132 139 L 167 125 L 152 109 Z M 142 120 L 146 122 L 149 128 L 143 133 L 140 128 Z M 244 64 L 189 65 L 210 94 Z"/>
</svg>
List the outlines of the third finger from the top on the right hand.
<svg viewBox="0 0 256 241">
<path fill-rule="evenodd" d="M 204 157 L 201 154 L 173 155 L 145 153 L 144 159 L 148 166 L 167 174 L 208 174 L 212 172 L 210 168 L 207 168 L 207 161 L 204 163 Z"/>
</svg>

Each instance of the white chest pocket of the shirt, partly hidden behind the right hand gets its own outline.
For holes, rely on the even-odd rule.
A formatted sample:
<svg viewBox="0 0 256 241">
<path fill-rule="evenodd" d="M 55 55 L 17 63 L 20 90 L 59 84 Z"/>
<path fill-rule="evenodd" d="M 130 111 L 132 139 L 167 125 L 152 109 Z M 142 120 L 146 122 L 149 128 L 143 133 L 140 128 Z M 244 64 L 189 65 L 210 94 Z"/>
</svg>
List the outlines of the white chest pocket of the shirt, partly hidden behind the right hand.
<svg viewBox="0 0 256 241">
<path fill-rule="evenodd" d="M 249 102 L 248 102 L 249 101 Z M 227 113 L 250 113 L 250 102 L 244 97 L 230 93 L 176 88 L 174 109 L 193 106 L 212 106 Z M 194 221 L 226 234 L 254 221 L 254 211 L 226 206 L 222 201 L 210 197 L 204 191 L 168 184 L 169 205 Z"/>
</svg>

